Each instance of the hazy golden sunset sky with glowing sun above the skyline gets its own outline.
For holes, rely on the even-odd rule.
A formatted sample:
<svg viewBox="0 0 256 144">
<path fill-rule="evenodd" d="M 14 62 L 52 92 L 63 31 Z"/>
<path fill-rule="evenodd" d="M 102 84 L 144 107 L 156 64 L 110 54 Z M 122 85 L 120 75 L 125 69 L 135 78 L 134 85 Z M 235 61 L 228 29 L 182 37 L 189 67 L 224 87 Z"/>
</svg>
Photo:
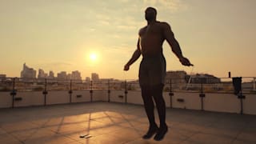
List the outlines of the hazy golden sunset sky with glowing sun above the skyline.
<svg viewBox="0 0 256 144">
<path fill-rule="evenodd" d="M 123 66 L 148 6 L 194 64 L 182 66 L 165 42 L 166 70 L 256 76 L 254 0 L 0 0 L 0 74 L 20 77 L 26 62 L 55 75 L 78 70 L 82 78 L 137 79 L 142 57 L 127 72 Z"/>
</svg>

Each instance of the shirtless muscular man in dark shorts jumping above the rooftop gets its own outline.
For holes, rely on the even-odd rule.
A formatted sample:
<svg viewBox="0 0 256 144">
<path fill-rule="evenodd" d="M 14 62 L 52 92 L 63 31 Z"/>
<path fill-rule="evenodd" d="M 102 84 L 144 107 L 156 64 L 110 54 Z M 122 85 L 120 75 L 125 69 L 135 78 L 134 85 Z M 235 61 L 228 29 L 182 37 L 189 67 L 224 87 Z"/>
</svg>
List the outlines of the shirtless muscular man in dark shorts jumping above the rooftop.
<svg viewBox="0 0 256 144">
<path fill-rule="evenodd" d="M 149 130 L 142 138 L 151 138 L 154 134 L 154 140 L 160 141 L 168 131 L 166 125 L 166 103 L 162 97 L 162 90 L 166 75 L 166 60 L 162 54 L 162 44 L 166 40 L 184 66 L 193 66 L 187 58 L 182 55 L 182 50 L 170 25 L 166 22 L 156 20 L 157 10 L 153 7 L 146 8 L 145 19 L 147 26 L 139 30 L 137 49 L 132 58 L 124 66 L 124 70 L 129 70 L 142 54 L 142 62 L 139 67 L 139 84 L 142 89 L 142 99 L 144 102 L 147 118 L 150 122 Z M 153 98 L 152 98 L 153 97 Z M 158 110 L 160 126 L 154 121 L 154 102 Z"/>
</svg>

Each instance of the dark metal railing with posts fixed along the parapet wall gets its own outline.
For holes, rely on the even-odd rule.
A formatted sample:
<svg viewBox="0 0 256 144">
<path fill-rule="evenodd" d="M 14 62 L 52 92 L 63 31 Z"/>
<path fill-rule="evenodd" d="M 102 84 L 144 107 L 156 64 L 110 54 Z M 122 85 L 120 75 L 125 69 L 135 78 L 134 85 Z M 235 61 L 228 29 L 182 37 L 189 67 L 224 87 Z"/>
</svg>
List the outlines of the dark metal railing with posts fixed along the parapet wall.
<svg viewBox="0 0 256 144">
<path fill-rule="evenodd" d="M 215 80 L 214 80 L 215 79 Z M 172 107 L 175 92 L 199 93 L 201 99 L 201 110 L 204 110 L 204 98 L 207 93 L 234 94 L 234 83 L 232 78 L 197 78 L 190 81 L 184 78 L 166 79 L 164 87 L 165 92 L 170 95 L 170 107 Z M 242 85 L 238 98 L 241 102 L 241 114 L 243 113 L 242 99 L 246 98 L 244 94 L 256 94 L 255 77 L 243 77 Z M 70 94 L 70 103 L 72 102 L 72 94 L 74 90 L 89 90 L 90 102 L 93 102 L 94 90 L 106 90 L 107 102 L 111 102 L 111 90 L 123 90 L 125 103 L 127 103 L 127 95 L 130 90 L 140 90 L 138 81 L 82 81 L 82 80 L 60 80 L 57 78 L 4 78 L 0 79 L 0 92 L 10 91 L 12 96 L 12 107 L 14 107 L 15 95 L 19 91 L 42 91 L 44 96 L 44 105 L 46 106 L 47 94 L 53 90 L 66 90 Z"/>
</svg>

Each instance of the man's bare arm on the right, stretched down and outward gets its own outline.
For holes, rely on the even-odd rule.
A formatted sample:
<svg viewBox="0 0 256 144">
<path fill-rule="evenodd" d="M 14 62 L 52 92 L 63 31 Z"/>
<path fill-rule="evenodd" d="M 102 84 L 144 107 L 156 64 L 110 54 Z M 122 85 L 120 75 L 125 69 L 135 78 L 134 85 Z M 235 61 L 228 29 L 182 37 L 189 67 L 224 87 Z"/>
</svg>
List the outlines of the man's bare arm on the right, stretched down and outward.
<svg viewBox="0 0 256 144">
<path fill-rule="evenodd" d="M 182 65 L 184 66 L 193 66 L 188 58 L 183 57 L 182 50 L 178 44 L 178 41 L 174 38 L 174 33 L 170 29 L 170 25 L 168 23 L 164 23 L 163 26 L 166 41 L 169 43 L 171 50 L 178 57 L 179 61 L 182 62 Z"/>
</svg>

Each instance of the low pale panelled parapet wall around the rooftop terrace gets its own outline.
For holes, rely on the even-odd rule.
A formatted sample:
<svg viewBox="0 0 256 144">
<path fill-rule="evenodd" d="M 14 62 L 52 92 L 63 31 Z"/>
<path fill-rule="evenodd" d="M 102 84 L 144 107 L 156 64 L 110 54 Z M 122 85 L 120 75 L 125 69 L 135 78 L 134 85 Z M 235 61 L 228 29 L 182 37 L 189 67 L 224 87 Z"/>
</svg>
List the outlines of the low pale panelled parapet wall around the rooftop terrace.
<svg viewBox="0 0 256 144">
<path fill-rule="evenodd" d="M 241 112 L 241 101 L 234 94 L 206 93 L 204 98 L 200 98 L 199 93 L 175 92 L 170 96 L 164 92 L 163 96 L 166 107 L 237 114 Z M 90 90 L 73 90 L 72 94 L 67 90 L 52 90 L 48 91 L 46 98 L 42 91 L 18 91 L 14 96 L 14 107 L 99 101 L 143 104 L 139 90 L 129 90 L 127 94 L 124 90 L 93 90 L 92 93 Z M 246 98 L 242 99 L 243 114 L 256 114 L 255 103 L 256 94 L 246 94 Z M 10 92 L 0 92 L 0 108 L 8 107 L 13 107 L 13 97 Z"/>
</svg>

